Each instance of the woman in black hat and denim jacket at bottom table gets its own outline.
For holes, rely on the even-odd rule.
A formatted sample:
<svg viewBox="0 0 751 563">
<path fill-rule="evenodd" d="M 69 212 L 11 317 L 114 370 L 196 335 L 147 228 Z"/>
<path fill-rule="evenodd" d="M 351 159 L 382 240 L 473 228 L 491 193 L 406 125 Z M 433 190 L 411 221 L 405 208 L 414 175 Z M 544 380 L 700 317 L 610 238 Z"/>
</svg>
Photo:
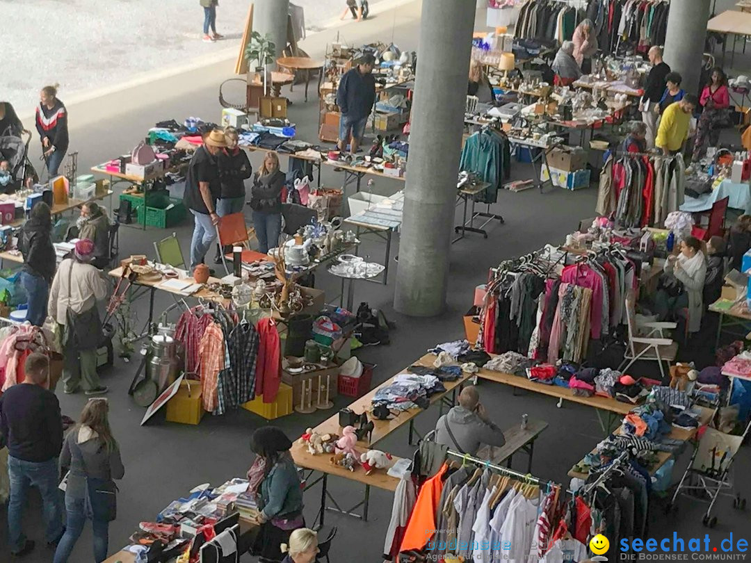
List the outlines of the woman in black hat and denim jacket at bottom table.
<svg viewBox="0 0 751 563">
<path fill-rule="evenodd" d="M 261 531 L 252 552 L 258 555 L 259 563 L 278 563 L 284 558 L 282 543 L 289 543 L 291 532 L 305 525 L 300 476 L 289 453 L 292 442 L 276 426 L 264 426 L 253 432 L 251 447 L 261 458 L 251 468 L 258 478 L 250 479 L 249 487 L 261 510 L 258 514 Z"/>
</svg>

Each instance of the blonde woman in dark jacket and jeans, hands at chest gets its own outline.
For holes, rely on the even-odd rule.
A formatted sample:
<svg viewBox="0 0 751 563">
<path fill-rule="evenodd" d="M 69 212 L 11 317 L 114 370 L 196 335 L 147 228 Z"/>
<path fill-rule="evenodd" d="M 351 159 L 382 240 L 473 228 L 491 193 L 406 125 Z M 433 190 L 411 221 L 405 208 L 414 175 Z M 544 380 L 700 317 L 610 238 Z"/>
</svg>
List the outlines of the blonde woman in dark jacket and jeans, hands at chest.
<svg viewBox="0 0 751 563">
<path fill-rule="evenodd" d="M 275 248 L 282 233 L 282 188 L 285 173 L 279 170 L 279 155 L 267 152 L 264 164 L 253 175 L 250 206 L 253 209 L 253 226 L 258 238 L 258 251 L 266 254 Z"/>
</svg>

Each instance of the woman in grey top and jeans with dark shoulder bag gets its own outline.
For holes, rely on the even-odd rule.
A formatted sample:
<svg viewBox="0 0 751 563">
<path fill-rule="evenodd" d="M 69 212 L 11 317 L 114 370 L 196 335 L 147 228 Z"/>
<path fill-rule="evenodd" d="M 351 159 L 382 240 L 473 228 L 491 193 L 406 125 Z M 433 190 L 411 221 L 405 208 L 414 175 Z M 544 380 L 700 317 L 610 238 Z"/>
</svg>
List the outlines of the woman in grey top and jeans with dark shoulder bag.
<svg viewBox="0 0 751 563">
<path fill-rule="evenodd" d="M 86 518 L 92 520 L 94 560 L 107 558 L 110 522 L 116 516 L 116 490 L 113 479 L 122 479 L 125 468 L 117 441 L 110 430 L 107 399 L 89 399 L 80 422 L 62 444 L 60 468 L 68 471 L 65 489 L 65 534 L 57 545 L 53 563 L 65 563 L 83 531 Z"/>
</svg>

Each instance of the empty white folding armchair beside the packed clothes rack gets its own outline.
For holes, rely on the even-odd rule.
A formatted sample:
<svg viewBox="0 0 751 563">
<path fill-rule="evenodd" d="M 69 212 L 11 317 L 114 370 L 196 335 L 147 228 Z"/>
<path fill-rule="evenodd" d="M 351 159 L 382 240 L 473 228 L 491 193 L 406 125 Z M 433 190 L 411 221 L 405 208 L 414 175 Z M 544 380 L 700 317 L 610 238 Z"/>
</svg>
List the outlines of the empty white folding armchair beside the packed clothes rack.
<svg viewBox="0 0 751 563">
<path fill-rule="evenodd" d="M 619 372 L 625 372 L 637 360 L 652 360 L 659 364 L 659 372 L 665 380 L 665 366 L 675 361 L 678 344 L 662 335 L 663 330 L 674 330 L 675 323 L 638 322 L 634 308 L 634 293 L 629 291 L 626 297 L 626 320 L 629 324 L 629 342 L 623 354 L 623 362 L 618 367 Z M 646 333 L 639 336 L 639 329 Z M 665 366 L 662 366 L 662 363 Z"/>
</svg>

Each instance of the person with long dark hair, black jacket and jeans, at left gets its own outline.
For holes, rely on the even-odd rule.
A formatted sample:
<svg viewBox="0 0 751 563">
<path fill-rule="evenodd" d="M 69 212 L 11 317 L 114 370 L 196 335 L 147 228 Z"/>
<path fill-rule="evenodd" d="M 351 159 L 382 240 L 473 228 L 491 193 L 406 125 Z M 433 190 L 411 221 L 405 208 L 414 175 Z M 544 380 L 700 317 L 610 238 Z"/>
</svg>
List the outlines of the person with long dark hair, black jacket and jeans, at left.
<svg viewBox="0 0 751 563">
<path fill-rule="evenodd" d="M 47 296 L 55 276 L 56 254 L 52 244 L 50 206 L 40 201 L 23 224 L 18 249 L 23 254 L 21 285 L 29 300 L 26 320 L 41 327 L 47 318 Z"/>
</svg>

